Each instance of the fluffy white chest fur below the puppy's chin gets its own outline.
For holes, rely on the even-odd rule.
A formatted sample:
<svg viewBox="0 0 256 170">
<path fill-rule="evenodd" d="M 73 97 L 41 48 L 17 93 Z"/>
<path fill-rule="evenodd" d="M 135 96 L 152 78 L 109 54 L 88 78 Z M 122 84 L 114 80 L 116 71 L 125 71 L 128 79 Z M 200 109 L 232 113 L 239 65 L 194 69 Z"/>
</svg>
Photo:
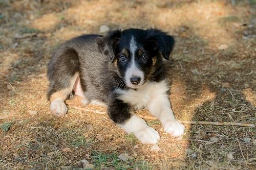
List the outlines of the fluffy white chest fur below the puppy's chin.
<svg viewBox="0 0 256 170">
<path fill-rule="evenodd" d="M 142 109 L 152 99 L 166 94 L 167 90 L 169 90 L 167 83 L 162 81 L 159 83 L 146 83 L 137 90 L 118 90 L 117 92 L 121 94 L 118 99 L 130 103 L 135 109 Z"/>
</svg>

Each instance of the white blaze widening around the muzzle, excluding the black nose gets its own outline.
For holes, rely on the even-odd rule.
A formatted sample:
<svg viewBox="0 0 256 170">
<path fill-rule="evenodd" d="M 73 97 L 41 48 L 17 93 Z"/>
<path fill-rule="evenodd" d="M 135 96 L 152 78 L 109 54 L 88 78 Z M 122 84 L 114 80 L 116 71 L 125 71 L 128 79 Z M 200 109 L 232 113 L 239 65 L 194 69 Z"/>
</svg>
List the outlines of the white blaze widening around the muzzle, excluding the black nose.
<svg viewBox="0 0 256 170">
<path fill-rule="evenodd" d="M 137 50 L 137 44 L 136 44 L 136 41 L 135 41 L 135 38 L 134 36 L 132 36 L 131 40 L 130 40 L 130 53 L 131 53 L 131 64 L 130 64 L 130 67 L 127 68 L 126 72 L 125 72 L 125 82 L 126 82 L 126 85 L 128 87 L 131 87 L 131 88 L 139 88 L 140 85 L 142 85 L 144 82 L 144 73 L 136 66 L 136 63 L 135 63 L 135 52 Z M 133 76 L 137 76 L 137 77 L 140 77 L 140 83 L 138 85 L 133 85 L 131 83 L 131 78 Z"/>
</svg>

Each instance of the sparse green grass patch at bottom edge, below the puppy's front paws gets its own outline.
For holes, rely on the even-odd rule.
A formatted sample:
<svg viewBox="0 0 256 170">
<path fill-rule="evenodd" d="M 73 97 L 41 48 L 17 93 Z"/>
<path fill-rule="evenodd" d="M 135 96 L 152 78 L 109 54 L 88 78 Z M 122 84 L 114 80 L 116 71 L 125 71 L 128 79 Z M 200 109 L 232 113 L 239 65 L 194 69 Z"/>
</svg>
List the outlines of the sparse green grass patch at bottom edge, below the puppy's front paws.
<svg viewBox="0 0 256 170">
<path fill-rule="evenodd" d="M 95 169 L 104 169 L 106 167 L 113 167 L 114 169 L 152 169 L 152 165 L 143 160 L 127 160 L 124 162 L 117 158 L 116 152 L 111 154 L 105 154 L 98 151 L 92 152 L 92 163 L 95 165 Z"/>
</svg>

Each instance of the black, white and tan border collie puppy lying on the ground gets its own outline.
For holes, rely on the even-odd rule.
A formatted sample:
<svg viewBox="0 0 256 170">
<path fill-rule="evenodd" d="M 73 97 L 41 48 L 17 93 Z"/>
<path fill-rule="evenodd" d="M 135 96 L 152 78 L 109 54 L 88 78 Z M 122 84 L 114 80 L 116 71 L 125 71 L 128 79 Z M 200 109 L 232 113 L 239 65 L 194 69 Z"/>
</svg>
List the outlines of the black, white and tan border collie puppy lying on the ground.
<svg viewBox="0 0 256 170">
<path fill-rule="evenodd" d="M 64 116 L 72 92 L 84 104 L 101 102 L 125 132 L 142 143 L 157 143 L 159 133 L 134 114 L 146 108 L 174 137 L 184 126 L 170 106 L 169 84 L 163 60 L 168 60 L 174 38 L 158 29 L 115 30 L 106 36 L 83 35 L 57 48 L 48 65 L 51 112 Z"/>
</svg>

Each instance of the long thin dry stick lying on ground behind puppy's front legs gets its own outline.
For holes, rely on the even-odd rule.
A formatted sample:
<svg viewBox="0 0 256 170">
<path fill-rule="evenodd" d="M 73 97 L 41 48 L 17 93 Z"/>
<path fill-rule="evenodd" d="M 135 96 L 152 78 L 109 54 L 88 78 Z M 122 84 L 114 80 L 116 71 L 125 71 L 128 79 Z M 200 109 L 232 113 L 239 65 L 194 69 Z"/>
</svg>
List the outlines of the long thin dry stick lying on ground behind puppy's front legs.
<svg viewBox="0 0 256 170">
<path fill-rule="evenodd" d="M 104 111 L 96 111 L 96 110 L 90 110 L 90 109 L 82 109 L 79 107 L 75 107 L 75 109 L 78 110 L 82 110 L 82 111 L 87 111 L 87 112 L 91 112 L 91 113 L 97 113 L 97 114 L 106 114 L 106 112 Z M 144 116 L 144 115 L 138 115 L 141 118 L 145 118 L 148 120 L 157 120 L 156 117 L 153 116 Z M 255 128 L 254 124 L 245 124 L 245 123 L 238 123 L 238 122 L 205 122 L 205 121 L 190 121 L 190 120 L 179 120 L 180 122 L 184 123 L 184 124 L 199 124 L 199 125 L 217 125 L 217 126 L 221 126 L 221 125 L 227 125 L 227 126 L 243 126 L 243 127 L 252 127 Z"/>
</svg>

